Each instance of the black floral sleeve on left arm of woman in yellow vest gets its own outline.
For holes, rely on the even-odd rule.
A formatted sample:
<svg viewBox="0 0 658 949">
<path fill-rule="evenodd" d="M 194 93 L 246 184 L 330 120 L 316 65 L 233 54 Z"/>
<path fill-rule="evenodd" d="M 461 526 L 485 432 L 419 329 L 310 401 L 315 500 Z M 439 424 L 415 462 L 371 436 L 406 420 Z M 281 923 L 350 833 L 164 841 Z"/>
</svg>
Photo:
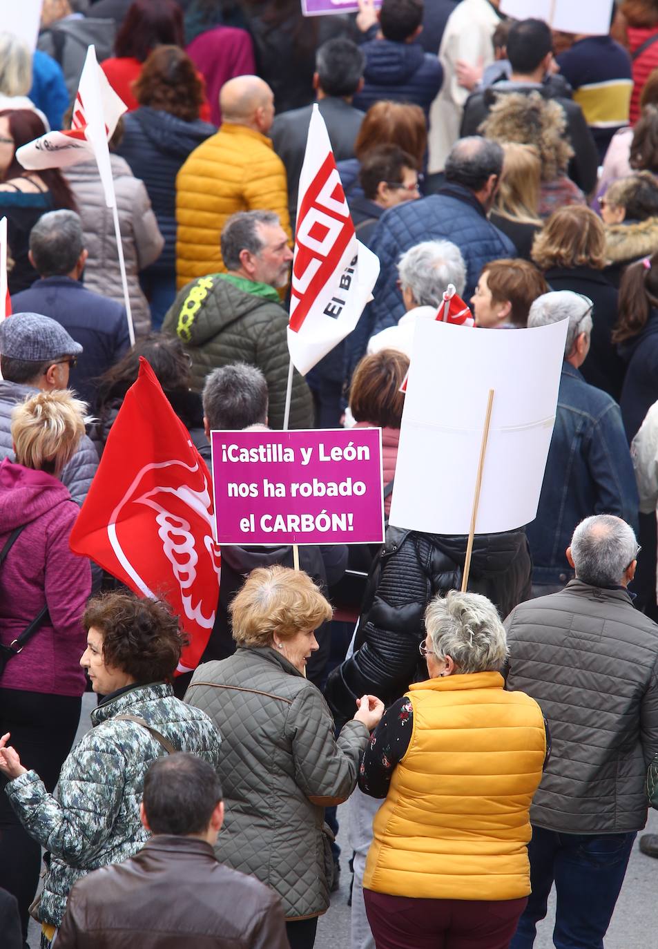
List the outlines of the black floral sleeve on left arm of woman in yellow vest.
<svg viewBox="0 0 658 949">
<path fill-rule="evenodd" d="M 386 710 L 370 737 L 358 770 L 358 787 L 371 797 L 386 797 L 393 768 L 409 748 L 413 709 L 409 698 L 398 698 Z"/>
</svg>

